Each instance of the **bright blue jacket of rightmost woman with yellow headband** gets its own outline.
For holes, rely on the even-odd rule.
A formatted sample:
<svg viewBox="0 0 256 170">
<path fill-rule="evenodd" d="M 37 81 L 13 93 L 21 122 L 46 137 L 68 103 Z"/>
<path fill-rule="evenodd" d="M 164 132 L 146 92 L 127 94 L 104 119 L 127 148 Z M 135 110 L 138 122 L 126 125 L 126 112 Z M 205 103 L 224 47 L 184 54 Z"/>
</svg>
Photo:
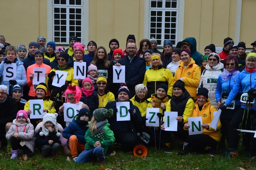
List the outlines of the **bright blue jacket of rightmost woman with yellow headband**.
<svg viewBox="0 0 256 170">
<path fill-rule="evenodd" d="M 256 89 L 256 71 L 249 73 L 245 69 L 238 73 L 236 76 L 235 85 L 233 89 L 229 93 L 228 99 L 226 101 L 227 104 L 230 104 L 232 100 L 235 99 L 238 93 L 247 93 L 249 89 Z M 245 108 L 245 103 L 241 103 L 241 108 Z M 256 105 L 250 104 L 250 110 L 256 110 Z"/>
</svg>

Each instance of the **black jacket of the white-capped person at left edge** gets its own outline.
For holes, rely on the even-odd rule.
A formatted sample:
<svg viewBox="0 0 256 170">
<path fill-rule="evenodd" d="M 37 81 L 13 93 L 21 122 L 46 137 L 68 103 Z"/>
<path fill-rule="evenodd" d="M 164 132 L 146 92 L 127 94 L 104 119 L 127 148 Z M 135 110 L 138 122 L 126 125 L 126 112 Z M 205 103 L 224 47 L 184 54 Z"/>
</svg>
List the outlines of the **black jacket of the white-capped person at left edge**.
<svg viewBox="0 0 256 170">
<path fill-rule="evenodd" d="M 7 95 L 4 103 L 0 103 L 0 126 L 5 127 L 6 123 L 12 122 L 16 118 L 17 112 L 17 102 L 14 98 Z"/>
</svg>

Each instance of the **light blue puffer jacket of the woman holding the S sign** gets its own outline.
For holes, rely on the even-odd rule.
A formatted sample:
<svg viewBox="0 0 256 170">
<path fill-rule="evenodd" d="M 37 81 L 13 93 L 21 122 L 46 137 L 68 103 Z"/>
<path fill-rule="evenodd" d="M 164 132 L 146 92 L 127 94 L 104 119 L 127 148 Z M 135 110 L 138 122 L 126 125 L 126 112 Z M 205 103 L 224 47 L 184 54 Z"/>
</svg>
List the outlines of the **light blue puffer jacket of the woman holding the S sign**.
<svg viewBox="0 0 256 170">
<path fill-rule="evenodd" d="M 4 61 L 6 59 L 7 58 L 4 58 L 3 62 L 0 64 L 0 75 L 2 77 L 0 83 L 7 86 L 8 94 L 9 94 L 10 83 L 9 83 L 9 81 L 4 81 Z M 23 86 L 26 86 L 27 81 L 28 81 L 26 70 L 23 66 L 23 63 L 21 61 L 18 61 L 17 58 L 15 58 L 14 63 L 16 63 L 16 81 L 17 81 L 17 84 L 19 84 L 21 89 L 23 89 Z M 23 94 L 21 96 L 23 96 Z"/>
</svg>

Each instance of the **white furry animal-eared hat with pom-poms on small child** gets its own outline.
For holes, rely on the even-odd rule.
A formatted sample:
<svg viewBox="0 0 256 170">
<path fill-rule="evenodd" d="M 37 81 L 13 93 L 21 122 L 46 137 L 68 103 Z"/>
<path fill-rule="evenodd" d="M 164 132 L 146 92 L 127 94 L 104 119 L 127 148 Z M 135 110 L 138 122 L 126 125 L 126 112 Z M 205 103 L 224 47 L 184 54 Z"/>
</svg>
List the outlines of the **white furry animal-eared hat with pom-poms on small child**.
<svg viewBox="0 0 256 170">
<path fill-rule="evenodd" d="M 39 133 L 40 136 L 49 136 L 49 130 L 44 128 L 44 125 L 46 122 L 50 121 L 52 122 L 52 124 L 54 125 L 57 133 L 56 135 L 58 137 L 60 137 L 60 132 L 58 132 L 58 125 L 57 125 L 57 116 L 58 116 L 58 113 L 46 113 L 44 112 L 44 117 L 43 117 L 43 128 L 42 128 L 42 132 Z"/>
</svg>

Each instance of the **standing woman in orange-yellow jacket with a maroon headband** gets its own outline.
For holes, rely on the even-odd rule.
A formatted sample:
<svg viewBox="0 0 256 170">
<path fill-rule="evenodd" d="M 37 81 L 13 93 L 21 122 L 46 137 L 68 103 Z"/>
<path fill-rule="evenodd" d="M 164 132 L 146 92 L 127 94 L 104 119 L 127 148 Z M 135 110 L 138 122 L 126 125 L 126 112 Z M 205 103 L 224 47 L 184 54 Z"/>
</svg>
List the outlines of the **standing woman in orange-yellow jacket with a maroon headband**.
<svg viewBox="0 0 256 170">
<path fill-rule="evenodd" d="M 180 66 L 174 76 L 173 82 L 182 80 L 185 83 L 185 88 L 194 100 L 196 100 L 196 89 L 201 78 L 201 68 L 196 65 L 193 58 L 190 58 L 191 53 L 188 49 L 180 50 Z"/>
</svg>

